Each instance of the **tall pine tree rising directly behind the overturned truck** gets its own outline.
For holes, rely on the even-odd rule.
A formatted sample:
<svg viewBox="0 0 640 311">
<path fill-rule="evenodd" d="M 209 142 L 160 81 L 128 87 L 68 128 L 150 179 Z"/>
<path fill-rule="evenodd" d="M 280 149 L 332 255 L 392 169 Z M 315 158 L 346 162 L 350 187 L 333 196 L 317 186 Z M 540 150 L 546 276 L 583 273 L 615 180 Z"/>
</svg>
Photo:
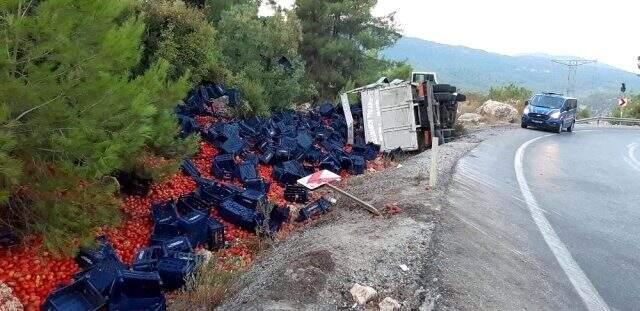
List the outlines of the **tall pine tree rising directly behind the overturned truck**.
<svg viewBox="0 0 640 311">
<path fill-rule="evenodd" d="M 371 83 L 388 68 L 378 57 L 400 35 L 393 15 L 374 17 L 376 0 L 297 0 L 300 53 L 321 99 L 334 99 L 348 81 Z"/>
</svg>

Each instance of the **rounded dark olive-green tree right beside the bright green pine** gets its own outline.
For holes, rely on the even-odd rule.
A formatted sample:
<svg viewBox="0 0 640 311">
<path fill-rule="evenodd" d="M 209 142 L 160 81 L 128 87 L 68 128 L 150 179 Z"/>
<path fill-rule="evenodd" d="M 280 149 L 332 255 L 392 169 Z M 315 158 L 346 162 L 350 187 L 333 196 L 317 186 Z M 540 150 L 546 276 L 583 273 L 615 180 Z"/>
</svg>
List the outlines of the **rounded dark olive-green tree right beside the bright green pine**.
<svg viewBox="0 0 640 311">
<path fill-rule="evenodd" d="M 198 84 L 217 70 L 215 30 L 203 12 L 180 0 L 144 1 L 141 11 L 145 50 L 138 71 L 164 59 L 171 79 L 189 73 L 190 81 Z"/>
</svg>

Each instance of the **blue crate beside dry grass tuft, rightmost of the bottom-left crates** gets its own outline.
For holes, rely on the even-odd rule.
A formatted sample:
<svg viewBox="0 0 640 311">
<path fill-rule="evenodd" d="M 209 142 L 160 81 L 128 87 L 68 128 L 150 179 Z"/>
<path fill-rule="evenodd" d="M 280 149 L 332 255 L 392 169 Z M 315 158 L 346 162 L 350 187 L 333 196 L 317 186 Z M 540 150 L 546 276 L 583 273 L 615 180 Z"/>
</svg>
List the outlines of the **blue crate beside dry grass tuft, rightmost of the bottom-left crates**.
<svg viewBox="0 0 640 311">
<path fill-rule="evenodd" d="M 158 274 L 162 279 L 162 286 L 167 290 L 182 287 L 185 277 L 196 269 L 196 259 L 190 253 L 176 253 L 172 257 L 158 260 Z"/>
</svg>

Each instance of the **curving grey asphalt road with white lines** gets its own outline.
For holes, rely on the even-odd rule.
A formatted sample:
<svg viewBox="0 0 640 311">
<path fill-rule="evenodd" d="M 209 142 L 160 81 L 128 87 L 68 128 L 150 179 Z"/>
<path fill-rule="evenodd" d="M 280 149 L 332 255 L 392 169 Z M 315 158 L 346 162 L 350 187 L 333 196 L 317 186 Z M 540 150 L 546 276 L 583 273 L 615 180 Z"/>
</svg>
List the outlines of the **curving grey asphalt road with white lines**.
<svg viewBox="0 0 640 311">
<path fill-rule="evenodd" d="M 640 310 L 640 130 L 515 130 L 456 168 L 441 309 Z"/>
</svg>

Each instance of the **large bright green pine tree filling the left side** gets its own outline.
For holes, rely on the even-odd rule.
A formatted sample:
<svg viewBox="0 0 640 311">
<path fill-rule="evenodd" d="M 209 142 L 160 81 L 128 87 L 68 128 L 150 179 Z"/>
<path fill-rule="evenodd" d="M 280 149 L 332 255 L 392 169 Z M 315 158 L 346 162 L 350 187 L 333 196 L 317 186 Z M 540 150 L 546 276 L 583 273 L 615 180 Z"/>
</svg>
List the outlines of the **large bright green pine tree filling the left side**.
<svg viewBox="0 0 640 311">
<path fill-rule="evenodd" d="M 189 83 L 161 57 L 139 69 L 145 24 L 134 0 L 34 3 L 0 7 L 0 216 L 69 251 L 118 221 L 105 176 L 191 150 L 171 117 Z"/>
</svg>

